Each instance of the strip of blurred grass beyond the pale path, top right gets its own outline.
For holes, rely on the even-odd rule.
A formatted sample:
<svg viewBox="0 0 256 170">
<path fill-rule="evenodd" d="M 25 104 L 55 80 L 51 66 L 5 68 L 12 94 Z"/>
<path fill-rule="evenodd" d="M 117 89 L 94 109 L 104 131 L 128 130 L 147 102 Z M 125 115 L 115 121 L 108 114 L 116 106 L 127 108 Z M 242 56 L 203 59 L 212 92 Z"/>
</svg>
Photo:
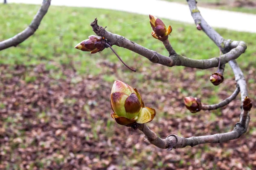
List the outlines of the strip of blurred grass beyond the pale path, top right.
<svg viewBox="0 0 256 170">
<path fill-rule="evenodd" d="M 186 0 L 166 0 L 166 1 L 187 4 Z M 251 0 L 251 1 L 255 2 L 255 0 Z M 203 6 L 207 8 L 217 8 L 217 9 L 228 10 L 228 11 L 237 11 L 237 12 L 256 14 L 256 8 L 232 7 L 230 0 L 197 0 L 197 2 L 198 2 L 197 4 L 198 6 Z"/>
</svg>

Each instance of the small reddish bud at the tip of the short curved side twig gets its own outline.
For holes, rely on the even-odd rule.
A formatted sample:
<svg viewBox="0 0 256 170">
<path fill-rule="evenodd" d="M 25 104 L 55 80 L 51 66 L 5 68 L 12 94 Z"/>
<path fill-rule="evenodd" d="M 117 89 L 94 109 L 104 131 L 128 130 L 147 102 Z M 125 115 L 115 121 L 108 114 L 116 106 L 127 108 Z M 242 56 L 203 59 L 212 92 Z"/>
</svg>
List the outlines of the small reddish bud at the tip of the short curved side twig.
<svg viewBox="0 0 256 170">
<path fill-rule="evenodd" d="M 185 97 L 184 98 L 184 103 L 186 105 L 186 108 L 189 109 L 191 113 L 196 113 L 201 111 L 201 100 L 198 98 L 194 97 Z"/>
</svg>

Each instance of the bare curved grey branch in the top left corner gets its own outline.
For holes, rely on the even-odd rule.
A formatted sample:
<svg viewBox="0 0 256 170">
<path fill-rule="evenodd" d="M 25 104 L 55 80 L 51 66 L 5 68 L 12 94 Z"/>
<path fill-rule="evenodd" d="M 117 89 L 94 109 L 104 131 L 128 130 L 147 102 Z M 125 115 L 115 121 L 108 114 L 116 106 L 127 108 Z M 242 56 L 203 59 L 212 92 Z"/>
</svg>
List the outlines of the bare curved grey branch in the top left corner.
<svg viewBox="0 0 256 170">
<path fill-rule="evenodd" d="M 43 0 L 41 8 L 38 10 L 37 14 L 35 15 L 30 25 L 24 31 L 20 32 L 14 37 L 0 42 L 0 51 L 12 46 L 17 46 L 18 44 L 26 40 L 28 37 L 33 35 L 35 31 L 38 29 L 38 26 L 40 25 L 40 22 L 43 19 L 44 15 L 47 13 L 50 4 L 51 0 Z"/>
</svg>

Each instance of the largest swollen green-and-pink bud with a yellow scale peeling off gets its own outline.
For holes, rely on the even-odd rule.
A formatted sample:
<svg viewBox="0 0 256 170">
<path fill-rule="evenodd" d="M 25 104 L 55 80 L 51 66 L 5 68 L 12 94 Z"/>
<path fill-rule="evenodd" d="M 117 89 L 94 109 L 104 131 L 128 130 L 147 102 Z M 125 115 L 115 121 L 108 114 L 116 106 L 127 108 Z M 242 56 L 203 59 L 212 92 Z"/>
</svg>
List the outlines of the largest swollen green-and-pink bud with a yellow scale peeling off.
<svg viewBox="0 0 256 170">
<path fill-rule="evenodd" d="M 137 89 L 115 81 L 111 90 L 111 117 L 120 125 L 147 123 L 154 119 L 155 110 L 146 108 Z"/>
</svg>

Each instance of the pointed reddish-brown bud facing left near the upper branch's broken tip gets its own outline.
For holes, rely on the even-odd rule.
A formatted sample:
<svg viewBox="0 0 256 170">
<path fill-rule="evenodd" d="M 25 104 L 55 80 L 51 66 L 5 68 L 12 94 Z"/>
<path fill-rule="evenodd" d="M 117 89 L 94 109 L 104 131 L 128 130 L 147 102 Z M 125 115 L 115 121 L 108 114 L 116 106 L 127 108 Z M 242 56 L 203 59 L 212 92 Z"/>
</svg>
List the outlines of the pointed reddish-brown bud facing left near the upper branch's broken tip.
<svg viewBox="0 0 256 170">
<path fill-rule="evenodd" d="M 106 42 L 102 37 L 91 35 L 89 36 L 89 39 L 80 42 L 75 48 L 81 51 L 90 51 L 91 54 L 94 54 L 104 50 L 105 44 Z"/>
</svg>

